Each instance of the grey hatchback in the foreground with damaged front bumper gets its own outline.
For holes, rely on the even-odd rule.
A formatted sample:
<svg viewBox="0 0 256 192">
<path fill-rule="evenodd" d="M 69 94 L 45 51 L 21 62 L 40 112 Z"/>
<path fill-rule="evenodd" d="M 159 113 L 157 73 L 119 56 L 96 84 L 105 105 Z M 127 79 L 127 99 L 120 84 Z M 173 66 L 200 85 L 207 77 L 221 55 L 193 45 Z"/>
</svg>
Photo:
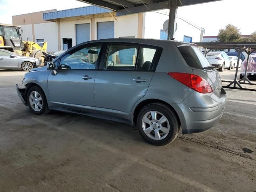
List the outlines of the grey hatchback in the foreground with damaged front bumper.
<svg viewBox="0 0 256 192">
<path fill-rule="evenodd" d="M 220 75 L 194 44 L 93 40 L 25 74 L 17 92 L 35 114 L 50 110 L 136 125 L 154 145 L 202 132 L 226 102 Z"/>
</svg>

